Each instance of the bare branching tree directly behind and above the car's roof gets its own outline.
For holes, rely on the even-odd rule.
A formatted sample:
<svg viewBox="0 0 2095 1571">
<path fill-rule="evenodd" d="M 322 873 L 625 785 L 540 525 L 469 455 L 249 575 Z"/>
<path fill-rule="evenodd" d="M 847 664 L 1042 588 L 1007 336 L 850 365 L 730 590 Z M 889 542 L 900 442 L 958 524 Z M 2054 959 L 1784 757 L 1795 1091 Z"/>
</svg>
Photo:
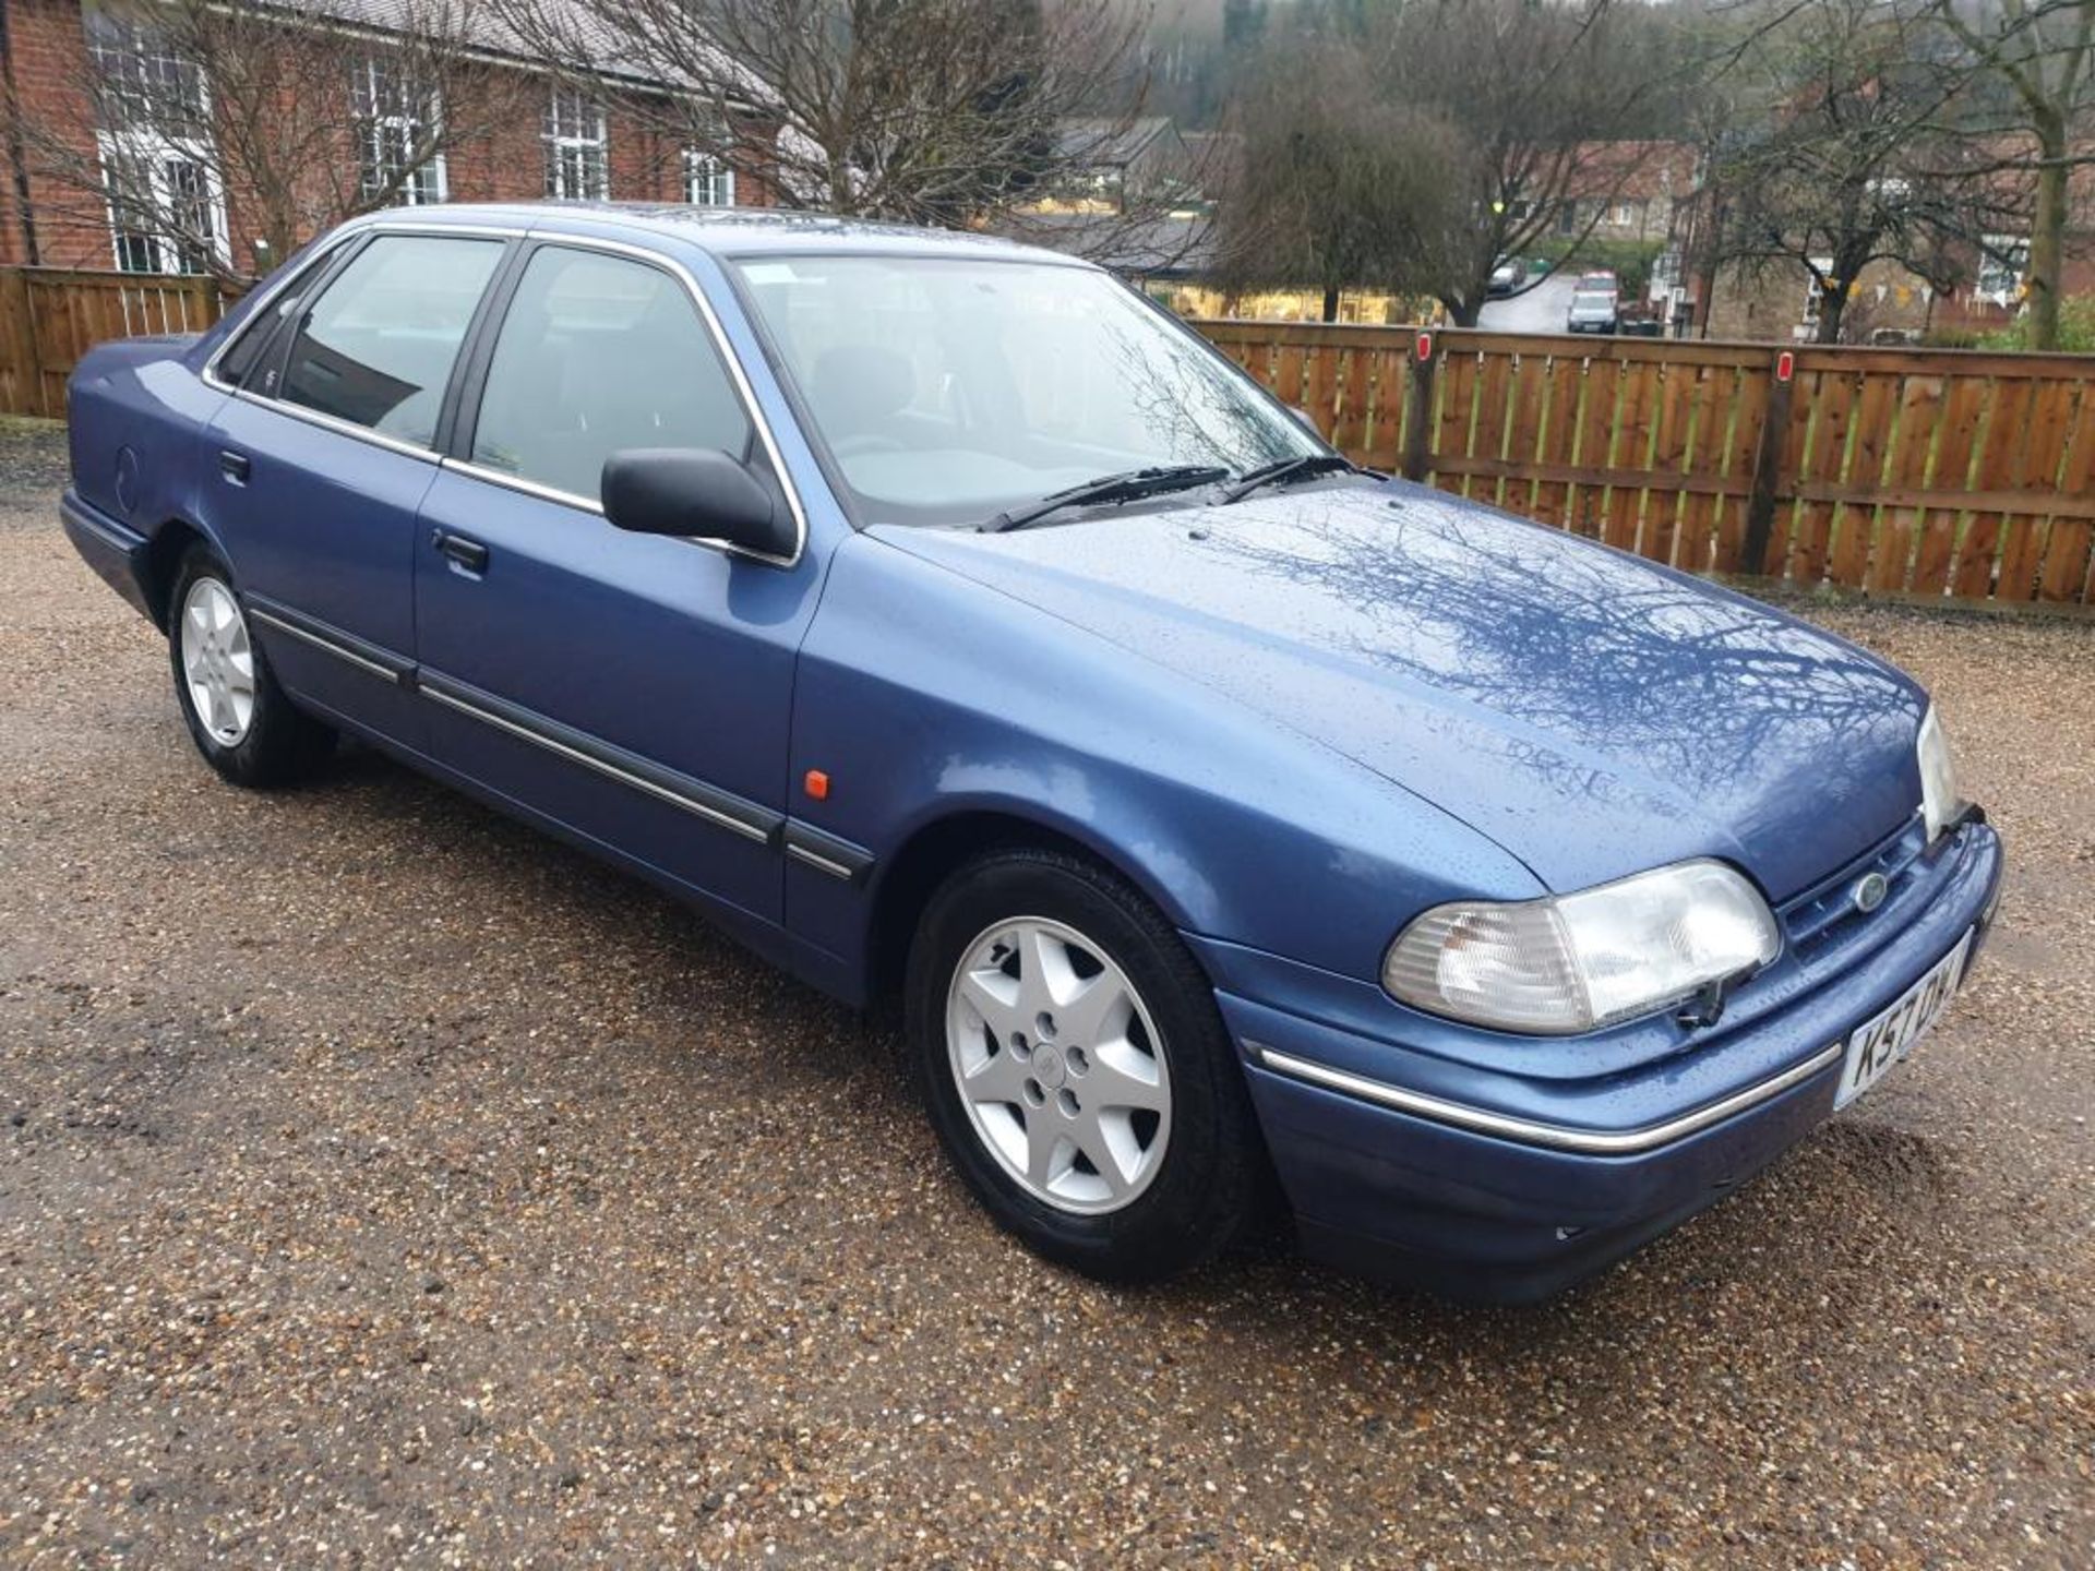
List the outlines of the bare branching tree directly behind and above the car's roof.
<svg viewBox="0 0 2095 1571">
<path fill-rule="evenodd" d="M 553 69 L 662 84 L 675 145 L 790 207 L 972 224 L 1094 163 L 1133 115 L 1140 15 L 1112 0 L 497 0 Z M 1100 105 L 1110 92 L 1117 105 Z M 1083 117 L 1089 142 L 1071 138 Z"/>
</svg>

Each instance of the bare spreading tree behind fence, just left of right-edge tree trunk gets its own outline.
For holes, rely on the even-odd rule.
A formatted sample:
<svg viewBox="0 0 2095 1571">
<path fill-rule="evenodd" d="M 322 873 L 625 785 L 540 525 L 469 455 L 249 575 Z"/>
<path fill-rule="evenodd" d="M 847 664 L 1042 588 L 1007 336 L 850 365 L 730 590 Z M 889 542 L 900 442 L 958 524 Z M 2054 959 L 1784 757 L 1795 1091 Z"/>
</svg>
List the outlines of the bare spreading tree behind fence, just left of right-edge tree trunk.
<svg viewBox="0 0 2095 1571">
<path fill-rule="evenodd" d="M 1712 247 L 1747 274 L 1802 270 L 1816 339 L 1896 262 L 1936 285 L 1988 224 L 1988 191 L 1942 134 L 1961 78 L 1925 52 L 1927 0 L 1783 0 L 1739 13 L 1741 124 L 1720 145 Z"/>
</svg>

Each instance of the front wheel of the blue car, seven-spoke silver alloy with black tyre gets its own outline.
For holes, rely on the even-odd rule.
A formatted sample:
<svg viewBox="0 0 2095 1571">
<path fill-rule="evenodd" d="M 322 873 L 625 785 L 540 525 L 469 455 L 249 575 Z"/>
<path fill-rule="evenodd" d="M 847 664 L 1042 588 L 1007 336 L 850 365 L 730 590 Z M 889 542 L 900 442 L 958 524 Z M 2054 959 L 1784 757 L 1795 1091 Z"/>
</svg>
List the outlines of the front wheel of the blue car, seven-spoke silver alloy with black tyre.
<svg viewBox="0 0 2095 1571">
<path fill-rule="evenodd" d="M 911 1068 L 1008 1232 L 1112 1282 L 1221 1251 L 1265 1158 L 1215 995 L 1121 878 L 1014 848 L 955 871 L 909 951 Z"/>
</svg>

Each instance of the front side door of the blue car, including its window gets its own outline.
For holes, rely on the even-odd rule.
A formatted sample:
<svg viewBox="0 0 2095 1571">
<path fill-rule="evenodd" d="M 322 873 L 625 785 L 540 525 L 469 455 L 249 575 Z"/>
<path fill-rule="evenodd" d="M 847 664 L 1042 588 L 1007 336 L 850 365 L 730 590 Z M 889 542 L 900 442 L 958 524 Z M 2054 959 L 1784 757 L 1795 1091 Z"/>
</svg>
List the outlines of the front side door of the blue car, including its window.
<svg viewBox="0 0 2095 1571">
<path fill-rule="evenodd" d="M 689 287 L 631 253 L 536 245 L 465 385 L 459 461 L 423 501 L 415 555 L 432 754 L 777 922 L 813 563 L 626 534 L 599 507 L 620 448 L 719 448 L 769 482 Z"/>
</svg>

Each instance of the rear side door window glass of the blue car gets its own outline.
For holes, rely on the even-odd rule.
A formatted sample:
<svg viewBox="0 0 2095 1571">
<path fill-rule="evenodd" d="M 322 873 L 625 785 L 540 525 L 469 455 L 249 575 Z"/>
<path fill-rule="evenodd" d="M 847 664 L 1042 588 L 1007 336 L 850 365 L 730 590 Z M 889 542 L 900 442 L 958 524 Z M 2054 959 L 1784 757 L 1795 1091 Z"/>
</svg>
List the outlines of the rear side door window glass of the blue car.
<svg viewBox="0 0 2095 1571">
<path fill-rule="evenodd" d="M 459 344 L 501 260 L 492 239 L 379 235 L 306 314 L 279 396 L 429 446 Z"/>
</svg>

